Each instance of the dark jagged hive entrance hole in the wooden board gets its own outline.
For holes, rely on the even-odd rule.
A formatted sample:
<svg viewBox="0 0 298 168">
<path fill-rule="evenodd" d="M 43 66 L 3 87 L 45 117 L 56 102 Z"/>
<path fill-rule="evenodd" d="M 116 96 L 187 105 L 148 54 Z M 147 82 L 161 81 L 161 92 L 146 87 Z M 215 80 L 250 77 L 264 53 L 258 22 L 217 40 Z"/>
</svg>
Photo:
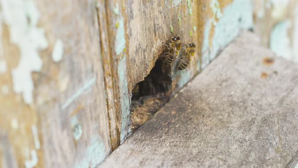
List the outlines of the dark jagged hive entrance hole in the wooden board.
<svg viewBox="0 0 298 168">
<path fill-rule="evenodd" d="M 170 99 L 171 77 L 164 74 L 163 62 L 157 60 L 150 74 L 132 90 L 130 105 L 131 129 L 135 131 Z"/>
</svg>

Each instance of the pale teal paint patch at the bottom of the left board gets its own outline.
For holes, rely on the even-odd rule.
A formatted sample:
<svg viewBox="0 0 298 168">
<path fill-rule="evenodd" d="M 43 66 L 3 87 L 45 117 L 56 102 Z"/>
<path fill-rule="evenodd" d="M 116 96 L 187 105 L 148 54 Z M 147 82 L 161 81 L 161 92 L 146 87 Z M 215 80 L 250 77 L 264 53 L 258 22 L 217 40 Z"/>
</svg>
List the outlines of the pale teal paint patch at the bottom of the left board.
<svg viewBox="0 0 298 168">
<path fill-rule="evenodd" d="M 106 147 L 100 137 L 91 138 L 90 145 L 85 150 L 83 158 L 74 165 L 75 168 L 96 167 L 106 158 Z"/>
</svg>

